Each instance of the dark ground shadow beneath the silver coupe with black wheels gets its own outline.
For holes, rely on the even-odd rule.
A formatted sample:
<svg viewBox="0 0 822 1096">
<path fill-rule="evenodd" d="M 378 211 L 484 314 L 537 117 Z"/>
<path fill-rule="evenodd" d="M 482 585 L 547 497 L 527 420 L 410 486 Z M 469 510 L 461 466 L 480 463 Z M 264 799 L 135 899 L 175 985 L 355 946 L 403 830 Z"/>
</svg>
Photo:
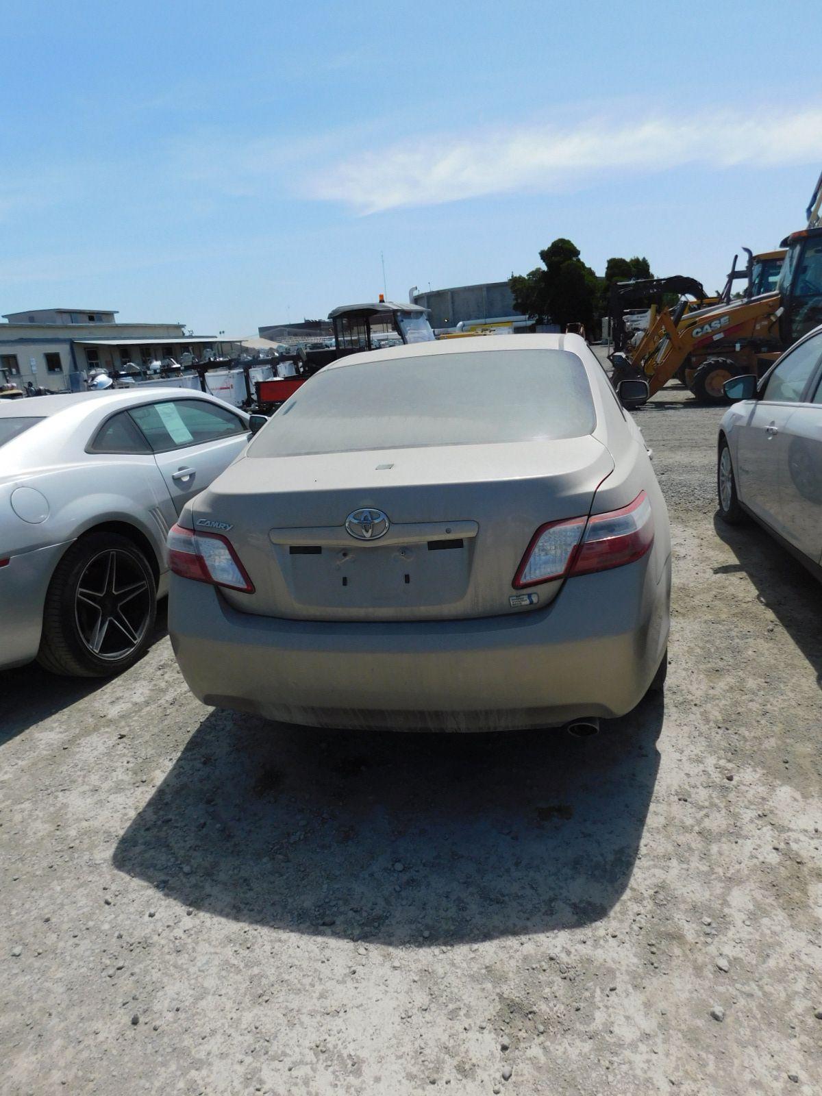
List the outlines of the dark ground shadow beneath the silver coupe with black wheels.
<svg viewBox="0 0 822 1096">
<path fill-rule="evenodd" d="M 163 598 L 157 606 L 149 648 L 168 631 L 167 604 Z M 109 677 L 60 677 L 42 670 L 36 662 L 0 671 L 0 746 L 35 723 L 96 693 L 109 681 Z"/>
</svg>

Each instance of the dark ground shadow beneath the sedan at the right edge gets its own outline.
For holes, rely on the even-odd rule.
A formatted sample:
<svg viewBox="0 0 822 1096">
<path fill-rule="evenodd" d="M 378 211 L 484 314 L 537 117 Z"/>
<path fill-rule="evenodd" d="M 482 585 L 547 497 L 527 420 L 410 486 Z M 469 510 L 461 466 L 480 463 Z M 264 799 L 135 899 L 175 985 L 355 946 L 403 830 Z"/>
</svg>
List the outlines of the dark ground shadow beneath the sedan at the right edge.
<svg viewBox="0 0 822 1096">
<path fill-rule="evenodd" d="M 753 518 L 728 525 L 717 513 L 713 528 L 756 586 L 758 601 L 774 613 L 813 666 L 822 687 L 822 584 Z M 716 570 L 727 573 L 728 567 Z"/>
</svg>

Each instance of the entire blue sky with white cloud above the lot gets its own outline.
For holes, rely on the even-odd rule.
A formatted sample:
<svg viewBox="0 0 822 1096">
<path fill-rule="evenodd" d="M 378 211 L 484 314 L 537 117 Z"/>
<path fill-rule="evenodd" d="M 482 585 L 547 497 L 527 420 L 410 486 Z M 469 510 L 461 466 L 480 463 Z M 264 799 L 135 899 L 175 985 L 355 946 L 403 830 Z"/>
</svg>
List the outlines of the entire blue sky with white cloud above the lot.
<svg viewBox="0 0 822 1096">
<path fill-rule="evenodd" d="M 558 236 L 715 288 L 822 170 L 804 0 L 0 11 L 0 312 L 250 334 Z"/>
</svg>

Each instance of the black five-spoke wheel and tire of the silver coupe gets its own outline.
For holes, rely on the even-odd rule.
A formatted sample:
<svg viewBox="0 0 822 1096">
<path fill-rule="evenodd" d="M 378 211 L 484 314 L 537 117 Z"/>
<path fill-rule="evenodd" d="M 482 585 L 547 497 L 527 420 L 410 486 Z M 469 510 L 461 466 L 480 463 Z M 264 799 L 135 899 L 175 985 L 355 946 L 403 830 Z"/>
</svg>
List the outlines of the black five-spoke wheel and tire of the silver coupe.
<svg viewBox="0 0 822 1096">
<path fill-rule="evenodd" d="M 157 582 L 145 553 L 116 533 L 90 533 L 57 564 L 46 594 L 37 661 L 55 674 L 109 677 L 146 650 Z"/>
</svg>

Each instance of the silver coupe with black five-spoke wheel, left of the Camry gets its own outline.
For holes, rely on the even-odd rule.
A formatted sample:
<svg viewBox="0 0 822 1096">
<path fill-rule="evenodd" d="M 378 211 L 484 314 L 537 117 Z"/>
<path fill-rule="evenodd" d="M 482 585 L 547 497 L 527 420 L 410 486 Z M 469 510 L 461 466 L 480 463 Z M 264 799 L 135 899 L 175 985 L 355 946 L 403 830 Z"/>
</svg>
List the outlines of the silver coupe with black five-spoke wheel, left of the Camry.
<svg viewBox="0 0 822 1096">
<path fill-rule="evenodd" d="M 0 669 L 135 662 L 167 593 L 169 528 L 248 437 L 244 412 L 183 389 L 0 406 Z"/>
</svg>

